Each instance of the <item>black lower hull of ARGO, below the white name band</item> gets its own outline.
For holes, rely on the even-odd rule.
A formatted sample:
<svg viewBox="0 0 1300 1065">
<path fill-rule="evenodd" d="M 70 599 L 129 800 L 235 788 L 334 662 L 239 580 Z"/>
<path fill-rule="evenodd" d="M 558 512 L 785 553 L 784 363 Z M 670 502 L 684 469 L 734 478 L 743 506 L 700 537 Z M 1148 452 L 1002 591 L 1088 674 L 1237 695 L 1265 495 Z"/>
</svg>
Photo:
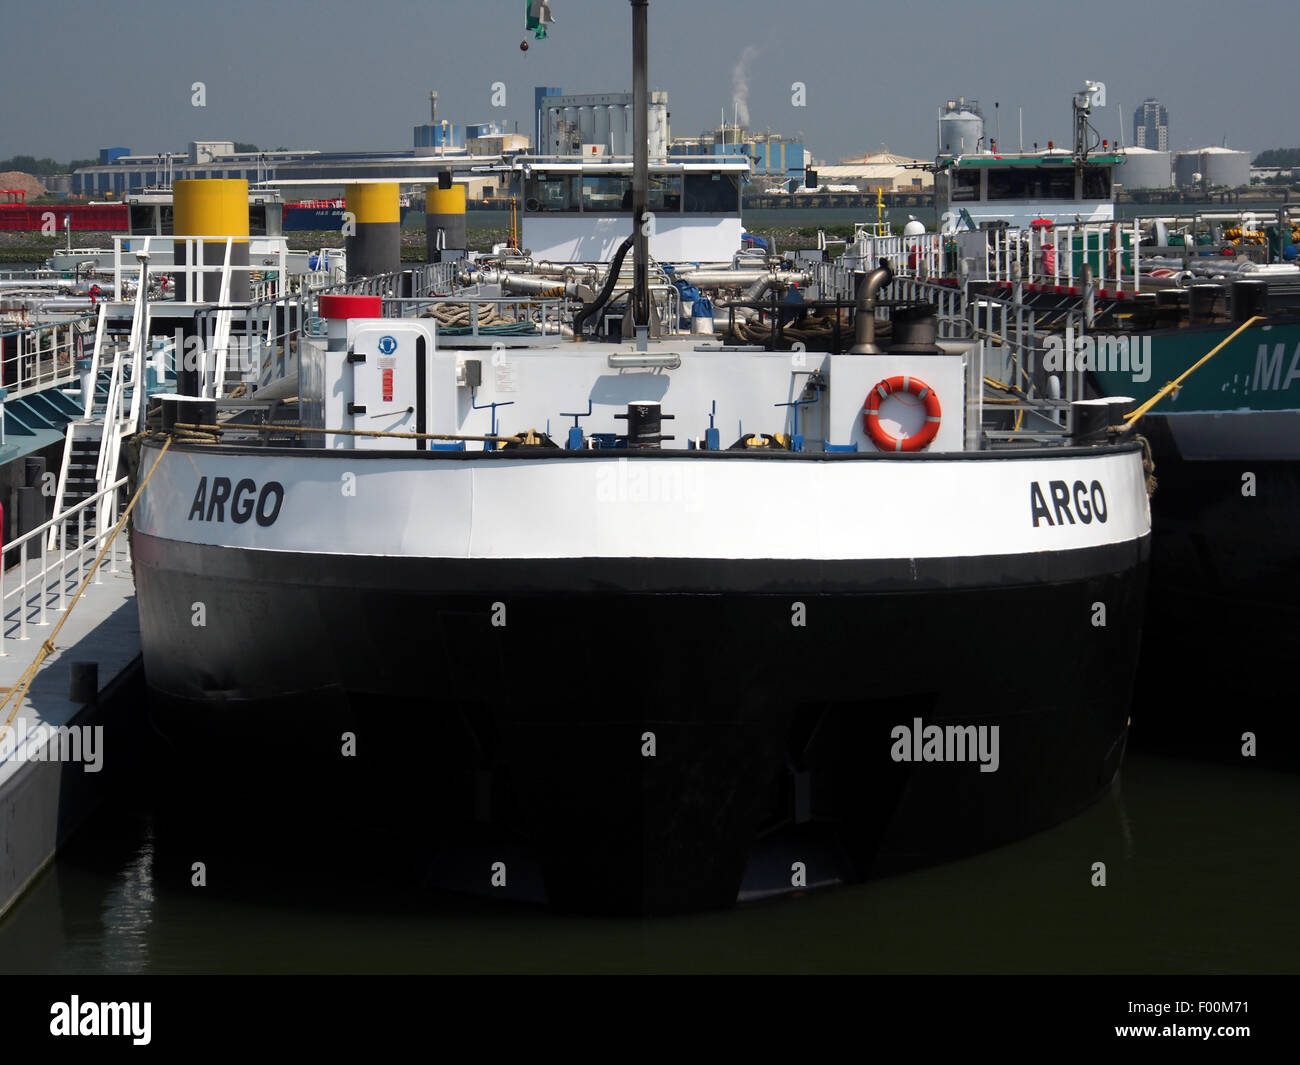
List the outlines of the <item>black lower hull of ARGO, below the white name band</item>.
<svg viewBox="0 0 1300 1065">
<path fill-rule="evenodd" d="M 647 913 L 797 888 L 794 862 L 812 887 L 971 853 L 1087 806 L 1123 757 L 1147 549 L 893 572 L 321 560 L 136 533 L 135 576 L 155 722 L 240 793 L 406 819 L 446 883 L 507 895 L 536 862 L 555 905 Z M 997 726 L 997 771 L 896 761 L 916 718 Z"/>
</svg>

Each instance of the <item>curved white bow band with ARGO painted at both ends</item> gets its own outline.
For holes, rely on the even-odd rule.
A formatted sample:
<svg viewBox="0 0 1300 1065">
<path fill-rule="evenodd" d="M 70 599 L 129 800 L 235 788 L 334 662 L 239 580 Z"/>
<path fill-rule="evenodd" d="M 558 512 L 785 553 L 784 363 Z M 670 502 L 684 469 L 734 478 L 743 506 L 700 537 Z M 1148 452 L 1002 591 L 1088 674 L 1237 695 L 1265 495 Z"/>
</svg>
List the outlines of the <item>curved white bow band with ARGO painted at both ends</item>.
<svg viewBox="0 0 1300 1065">
<path fill-rule="evenodd" d="M 374 462 L 173 450 L 150 488 L 135 519 L 147 536 L 322 555 L 970 558 L 1131 542 L 1150 528 L 1138 451 Z"/>
</svg>

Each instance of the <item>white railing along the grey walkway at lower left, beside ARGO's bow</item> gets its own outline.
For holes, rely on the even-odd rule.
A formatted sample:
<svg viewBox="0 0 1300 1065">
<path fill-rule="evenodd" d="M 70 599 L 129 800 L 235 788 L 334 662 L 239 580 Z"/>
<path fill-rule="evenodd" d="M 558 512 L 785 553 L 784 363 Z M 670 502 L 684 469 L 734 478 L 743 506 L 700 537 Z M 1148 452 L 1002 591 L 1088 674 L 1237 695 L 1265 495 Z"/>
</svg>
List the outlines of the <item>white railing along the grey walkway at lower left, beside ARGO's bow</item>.
<svg viewBox="0 0 1300 1065">
<path fill-rule="evenodd" d="M 18 553 L 18 562 L 0 572 L 0 657 L 9 654 L 10 641 L 30 640 L 29 628 L 49 627 L 68 607 L 121 518 L 118 505 L 124 485 L 126 477 L 4 545 L 6 555 Z M 95 521 L 87 518 L 92 506 L 113 520 L 96 529 Z M 57 533 L 57 550 L 46 547 L 51 533 Z M 116 573 L 121 563 L 130 566 L 130 545 L 125 536 L 113 541 L 105 562 L 110 573 Z M 103 573 L 100 566 L 95 584 L 103 584 Z"/>
</svg>

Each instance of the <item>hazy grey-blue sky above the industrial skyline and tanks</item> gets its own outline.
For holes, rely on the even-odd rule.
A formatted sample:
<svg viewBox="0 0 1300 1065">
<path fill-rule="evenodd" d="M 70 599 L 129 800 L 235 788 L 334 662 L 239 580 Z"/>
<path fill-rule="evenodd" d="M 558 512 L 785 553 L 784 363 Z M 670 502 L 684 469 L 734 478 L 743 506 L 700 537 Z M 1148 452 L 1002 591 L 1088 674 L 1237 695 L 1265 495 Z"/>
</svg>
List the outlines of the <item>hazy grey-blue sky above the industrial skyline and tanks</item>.
<svg viewBox="0 0 1300 1065">
<path fill-rule="evenodd" d="M 524 0 L 56 0 L 10 13 L 0 34 L 0 157 L 86 159 L 122 144 L 194 139 L 263 148 L 410 148 L 439 118 L 532 126 L 533 86 L 632 87 L 627 0 L 552 0 L 550 39 L 521 52 Z M 939 105 L 978 99 L 1002 146 L 1070 139 L 1070 92 L 1105 82 L 1104 137 L 1132 139 L 1157 96 L 1174 150 L 1252 153 L 1300 144 L 1295 0 L 651 0 L 650 81 L 672 133 L 732 114 L 748 55 L 750 126 L 802 133 L 828 163 L 879 150 L 935 153 Z M 1271 29 L 1270 29 L 1271 27 Z M 207 105 L 192 107 L 194 82 Z M 507 91 L 491 105 L 493 83 Z M 792 107 L 790 86 L 807 86 Z M 1117 107 L 1117 104 L 1119 107 Z"/>
</svg>

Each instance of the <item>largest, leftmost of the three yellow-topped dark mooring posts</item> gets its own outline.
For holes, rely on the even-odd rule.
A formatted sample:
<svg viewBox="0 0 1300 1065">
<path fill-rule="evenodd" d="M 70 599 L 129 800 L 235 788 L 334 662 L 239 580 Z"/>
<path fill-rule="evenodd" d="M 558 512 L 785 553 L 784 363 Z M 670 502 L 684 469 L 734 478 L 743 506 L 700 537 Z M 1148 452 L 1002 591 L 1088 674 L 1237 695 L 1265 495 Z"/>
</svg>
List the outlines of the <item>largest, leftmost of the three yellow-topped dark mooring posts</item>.
<svg viewBox="0 0 1300 1065">
<path fill-rule="evenodd" d="M 221 298 L 221 272 L 208 270 L 195 278 L 185 267 L 220 267 L 225 263 L 225 238 L 230 244 L 230 300 L 248 302 L 248 182 L 243 178 L 187 178 L 172 186 L 174 216 L 172 231 L 176 263 L 176 298 L 182 303 L 216 303 Z M 190 263 L 186 238 L 204 238 L 200 263 Z M 216 238 L 216 239 L 208 239 Z M 192 246 L 198 255 L 198 244 Z"/>
</svg>

